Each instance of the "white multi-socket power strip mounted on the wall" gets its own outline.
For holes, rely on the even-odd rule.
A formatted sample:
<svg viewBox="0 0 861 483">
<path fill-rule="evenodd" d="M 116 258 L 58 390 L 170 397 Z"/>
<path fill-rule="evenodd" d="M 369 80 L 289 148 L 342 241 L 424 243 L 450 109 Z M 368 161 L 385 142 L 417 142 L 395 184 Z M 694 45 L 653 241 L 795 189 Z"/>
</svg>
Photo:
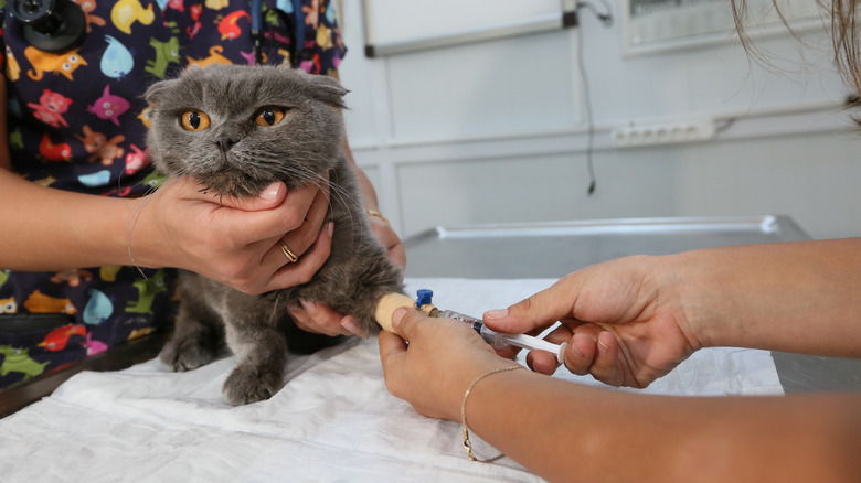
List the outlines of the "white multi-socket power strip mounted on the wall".
<svg viewBox="0 0 861 483">
<path fill-rule="evenodd" d="M 705 141 L 716 136 L 718 129 L 711 119 L 627 126 L 610 132 L 613 146 L 617 148 Z"/>
</svg>

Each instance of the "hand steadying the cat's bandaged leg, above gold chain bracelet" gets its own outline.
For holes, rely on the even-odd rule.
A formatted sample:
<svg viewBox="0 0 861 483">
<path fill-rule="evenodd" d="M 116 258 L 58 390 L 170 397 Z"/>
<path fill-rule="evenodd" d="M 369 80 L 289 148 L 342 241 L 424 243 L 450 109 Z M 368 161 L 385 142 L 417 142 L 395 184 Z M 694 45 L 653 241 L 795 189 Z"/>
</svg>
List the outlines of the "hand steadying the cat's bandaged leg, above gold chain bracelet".
<svg viewBox="0 0 861 483">
<path fill-rule="evenodd" d="M 472 379 L 512 364 L 461 322 L 397 309 L 392 326 L 396 335 L 382 331 L 379 336 L 385 386 L 424 416 L 460 420 L 460 401 Z"/>
</svg>

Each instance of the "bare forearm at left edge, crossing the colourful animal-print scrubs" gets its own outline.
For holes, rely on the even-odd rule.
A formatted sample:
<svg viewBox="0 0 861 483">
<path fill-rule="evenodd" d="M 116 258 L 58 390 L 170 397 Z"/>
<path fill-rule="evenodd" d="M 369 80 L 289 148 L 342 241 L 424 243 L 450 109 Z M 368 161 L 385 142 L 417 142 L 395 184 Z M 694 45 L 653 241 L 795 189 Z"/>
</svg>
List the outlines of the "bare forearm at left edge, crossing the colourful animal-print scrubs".
<svg viewBox="0 0 861 483">
<path fill-rule="evenodd" d="M 0 169 L 0 267 L 52 271 L 129 264 L 128 200 L 43 187 Z"/>
</svg>

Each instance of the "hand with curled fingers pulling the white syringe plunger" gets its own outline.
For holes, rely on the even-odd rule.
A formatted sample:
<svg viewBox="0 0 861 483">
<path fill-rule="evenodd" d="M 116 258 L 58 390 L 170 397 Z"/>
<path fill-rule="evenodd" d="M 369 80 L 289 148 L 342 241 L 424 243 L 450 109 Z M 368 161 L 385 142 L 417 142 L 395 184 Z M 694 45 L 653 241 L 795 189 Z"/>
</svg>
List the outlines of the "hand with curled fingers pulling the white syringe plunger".
<svg viewBox="0 0 861 483">
<path fill-rule="evenodd" d="M 614 386 L 646 387 L 701 347 L 689 334 L 672 271 L 660 257 L 627 257 L 594 265 L 560 279 L 507 310 L 485 314 L 498 332 L 536 333 L 568 342 L 565 366 Z M 555 357 L 533 351 L 529 364 L 543 374 Z"/>
</svg>

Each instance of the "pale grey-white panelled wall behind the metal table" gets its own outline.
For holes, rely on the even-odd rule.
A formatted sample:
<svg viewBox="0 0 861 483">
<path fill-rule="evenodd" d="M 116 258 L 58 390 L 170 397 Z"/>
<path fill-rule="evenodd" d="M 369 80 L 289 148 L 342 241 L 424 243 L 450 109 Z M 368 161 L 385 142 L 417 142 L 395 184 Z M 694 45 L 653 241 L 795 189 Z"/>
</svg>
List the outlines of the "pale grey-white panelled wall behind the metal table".
<svg viewBox="0 0 861 483">
<path fill-rule="evenodd" d="M 741 214 L 788 214 L 817 238 L 861 235 L 861 138 L 835 114 L 847 90 L 817 32 L 804 57 L 787 35 L 757 39 L 782 57 L 762 68 L 729 35 L 626 56 L 621 22 L 581 11 L 596 126 L 588 196 L 577 30 L 369 60 L 360 6 L 344 0 L 341 14 L 348 135 L 402 236 L 437 224 Z M 612 143 L 616 128 L 697 119 L 714 120 L 716 139 Z"/>
</svg>

